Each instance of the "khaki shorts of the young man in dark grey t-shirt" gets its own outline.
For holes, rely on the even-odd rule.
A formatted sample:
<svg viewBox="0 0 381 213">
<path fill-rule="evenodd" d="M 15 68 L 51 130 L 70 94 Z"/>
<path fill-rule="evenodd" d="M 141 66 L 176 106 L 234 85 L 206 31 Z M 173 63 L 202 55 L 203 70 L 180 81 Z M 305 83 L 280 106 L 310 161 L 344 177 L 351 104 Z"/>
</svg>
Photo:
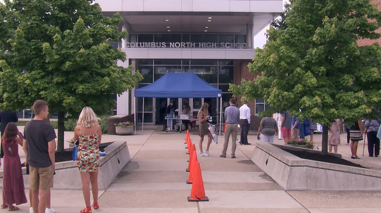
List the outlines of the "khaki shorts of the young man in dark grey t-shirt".
<svg viewBox="0 0 381 213">
<path fill-rule="evenodd" d="M 38 168 L 29 166 L 29 188 L 33 191 L 53 188 L 53 166 Z"/>
</svg>

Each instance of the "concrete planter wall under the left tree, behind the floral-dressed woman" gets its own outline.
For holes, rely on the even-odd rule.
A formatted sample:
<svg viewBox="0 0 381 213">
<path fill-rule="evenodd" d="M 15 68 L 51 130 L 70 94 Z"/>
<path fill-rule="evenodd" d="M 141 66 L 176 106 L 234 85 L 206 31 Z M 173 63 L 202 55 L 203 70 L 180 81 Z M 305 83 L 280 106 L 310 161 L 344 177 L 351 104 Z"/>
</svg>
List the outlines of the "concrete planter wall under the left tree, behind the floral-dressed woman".
<svg viewBox="0 0 381 213">
<path fill-rule="evenodd" d="M 114 141 L 110 143 L 105 150 L 107 155 L 101 157 L 98 171 L 99 190 L 106 190 L 116 175 L 131 160 L 130 152 L 125 141 Z M 72 151 L 73 148 L 65 149 Z M 29 188 L 29 175 L 26 174 L 25 167 L 22 168 L 24 186 Z M 82 182 L 78 166 L 75 161 L 64 161 L 55 164 L 54 189 L 73 189 L 81 190 Z M 3 186 L 3 172 L 0 172 L 0 185 Z"/>
</svg>

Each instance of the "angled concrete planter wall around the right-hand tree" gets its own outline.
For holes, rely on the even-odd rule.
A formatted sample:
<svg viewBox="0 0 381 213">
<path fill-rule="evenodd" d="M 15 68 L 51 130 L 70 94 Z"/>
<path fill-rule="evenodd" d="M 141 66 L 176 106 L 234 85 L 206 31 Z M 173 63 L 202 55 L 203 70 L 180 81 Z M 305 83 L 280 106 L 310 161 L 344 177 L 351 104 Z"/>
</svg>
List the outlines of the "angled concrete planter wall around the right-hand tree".
<svg viewBox="0 0 381 213">
<path fill-rule="evenodd" d="M 281 146 L 257 143 L 251 161 L 284 190 L 381 190 L 379 170 L 302 159 L 280 149 Z"/>
</svg>

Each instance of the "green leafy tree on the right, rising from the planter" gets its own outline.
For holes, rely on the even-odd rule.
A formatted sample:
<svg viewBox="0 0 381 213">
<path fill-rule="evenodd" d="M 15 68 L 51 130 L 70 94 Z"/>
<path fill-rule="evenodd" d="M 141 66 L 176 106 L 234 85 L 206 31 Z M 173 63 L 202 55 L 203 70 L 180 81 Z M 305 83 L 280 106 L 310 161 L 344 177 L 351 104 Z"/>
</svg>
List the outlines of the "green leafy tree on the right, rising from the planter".
<svg viewBox="0 0 381 213">
<path fill-rule="evenodd" d="M 231 85 L 244 99 L 263 97 L 272 108 L 290 110 L 301 120 L 322 124 L 322 153 L 327 154 L 328 124 L 337 118 L 353 122 L 380 109 L 381 48 L 359 47 L 359 39 L 377 39 L 381 13 L 369 0 L 292 0 L 287 28 L 270 28 L 264 49 L 248 65 L 262 75 Z M 302 112 L 299 112 L 299 109 Z M 376 111 L 373 111 L 375 114 Z"/>
</svg>

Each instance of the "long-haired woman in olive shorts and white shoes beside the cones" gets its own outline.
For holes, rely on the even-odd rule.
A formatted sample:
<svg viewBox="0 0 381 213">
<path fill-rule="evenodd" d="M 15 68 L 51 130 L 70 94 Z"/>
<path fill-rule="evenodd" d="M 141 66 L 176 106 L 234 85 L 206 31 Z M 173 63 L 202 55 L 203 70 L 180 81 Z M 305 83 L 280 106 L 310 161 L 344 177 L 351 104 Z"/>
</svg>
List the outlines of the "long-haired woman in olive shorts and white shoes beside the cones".
<svg viewBox="0 0 381 213">
<path fill-rule="evenodd" d="M 199 113 L 197 114 L 197 117 L 199 118 L 199 135 L 200 135 L 200 142 L 199 142 L 199 147 L 200 147 L 200 156 L 207 157 L 209 156 L 209 147 L 210 143 L 212 142 L 213 135 L 208 129 L 208 125 L 206 121 L 210 118 L 209 112 L 208 112 L 209 104 L 208 103 L 203 103 Z M 202 151 L 202 142 L 204 141 L 204 136 L 208 135 L 209 140 L 208 140 L 208 145 L 206 147 L 206 150 L 204 152 Z"/>
</svg>

